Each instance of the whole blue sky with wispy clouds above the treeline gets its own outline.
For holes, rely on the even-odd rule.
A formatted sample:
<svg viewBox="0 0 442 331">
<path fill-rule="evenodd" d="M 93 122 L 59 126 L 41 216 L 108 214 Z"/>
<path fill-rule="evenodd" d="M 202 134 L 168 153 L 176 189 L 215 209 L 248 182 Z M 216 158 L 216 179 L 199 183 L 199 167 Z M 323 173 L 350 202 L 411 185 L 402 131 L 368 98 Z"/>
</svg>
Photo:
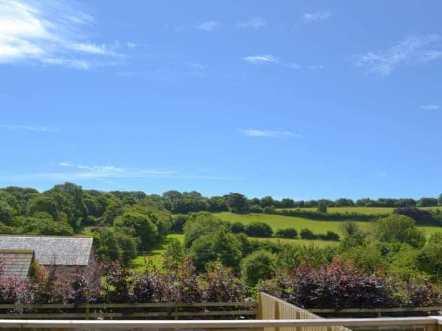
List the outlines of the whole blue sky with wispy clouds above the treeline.
<svg viewBox="0 0 442 331">
<path fill-rule="evenodd" d="M 0 0 L 0 187 L 438 196 L 441 12 Z"/>
</svg>

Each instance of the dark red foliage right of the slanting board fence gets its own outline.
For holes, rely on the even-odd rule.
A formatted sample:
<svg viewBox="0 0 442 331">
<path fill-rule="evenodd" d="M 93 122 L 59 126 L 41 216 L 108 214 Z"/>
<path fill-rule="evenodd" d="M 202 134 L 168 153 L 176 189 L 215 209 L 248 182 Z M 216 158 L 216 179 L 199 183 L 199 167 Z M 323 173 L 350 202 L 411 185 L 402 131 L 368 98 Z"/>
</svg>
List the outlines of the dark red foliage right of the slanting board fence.
<svg viewBox="0 0 442 331">
<path fill-rule="evenodd" d="M 418 307 L 441 302 L 440 291 L 429 283 L 396 282 L 340 262 L 320 268 L 301 265 L 262 283 L 260 290 L 307 309 Z"/>
</svg>

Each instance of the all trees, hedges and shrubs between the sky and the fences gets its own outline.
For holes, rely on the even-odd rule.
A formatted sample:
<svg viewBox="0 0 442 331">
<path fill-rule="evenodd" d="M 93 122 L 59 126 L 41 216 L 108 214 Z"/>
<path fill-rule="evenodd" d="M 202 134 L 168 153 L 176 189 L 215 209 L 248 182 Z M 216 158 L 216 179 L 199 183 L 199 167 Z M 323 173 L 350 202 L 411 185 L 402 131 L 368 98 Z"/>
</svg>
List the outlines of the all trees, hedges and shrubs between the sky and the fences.
<svg viewBox="0 0 442 331">
<path fill-rule="evenodd" d="M 438 204 L 442 204 L 442 194 L 439 199 L 418 201 L 277 201 L 247 199 L 238 193 L 206 198 L 198 192 L 169 191 L 161 196 L 99 192 L 73 183 L 42 193 L 3 188 L 1 234 L 90 234 L 104 264 L 61 279 L 45 270 L 37 271 L 31 283 L 2 279 L 0 302 L 80 302 L 86 300 L 87 288 L 98 289 L 88 294 L 88 300 L 95 302 L 241 301 L 262 289 L 307 308 L 440 305 L 442 234 L 426 237 L 416 226 L 441 226 L 441 210 L 419 208 Z M 334 206 L 353 205 L 395 209 L 390 214 L 327 212 Z M 301 209 L 306 206 L 316 209 Z M 316 234 L 295 227 L 273 232 L 265 222 L 222 221 L 216 212 L 223 211 L 343 222 L 340 234 Z M 372 221 L 372 227 L 363 228 L 358 221 Z M 146 257 L 146 270 L 134 274 L 131 260 L 171 232 L 184 234 L 184 244 L 172 241 L 163 265 L 154 266 Z M 256 237 L 322 239 L 337 245 L 319 247 Z M 106 282 L 97 283 L 97 274 L 101 277 L 103 272 Z M 57 292 L 60 281 L 70 284 L 70 292 Z M 44 293 L 51 294 L 41 299 Z M 336 293 L 354 299 L 343 302 Z"/>
</svg>

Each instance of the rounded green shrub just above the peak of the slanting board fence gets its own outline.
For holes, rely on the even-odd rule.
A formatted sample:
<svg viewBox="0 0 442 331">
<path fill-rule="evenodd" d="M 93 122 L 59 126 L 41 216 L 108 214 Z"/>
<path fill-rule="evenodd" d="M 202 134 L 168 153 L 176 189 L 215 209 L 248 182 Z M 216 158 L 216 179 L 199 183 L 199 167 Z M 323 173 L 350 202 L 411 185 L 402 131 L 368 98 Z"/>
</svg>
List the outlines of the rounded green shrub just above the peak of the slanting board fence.
<svg viewBox="0 0 442 331">
<path fill-rule="evenodd" d="M 253 252 L 242 262 L 244 281 L 254 286 L 260 279 L 269 279 L 276 272 L 276 255 L 267 250 Z"/>
</svg>

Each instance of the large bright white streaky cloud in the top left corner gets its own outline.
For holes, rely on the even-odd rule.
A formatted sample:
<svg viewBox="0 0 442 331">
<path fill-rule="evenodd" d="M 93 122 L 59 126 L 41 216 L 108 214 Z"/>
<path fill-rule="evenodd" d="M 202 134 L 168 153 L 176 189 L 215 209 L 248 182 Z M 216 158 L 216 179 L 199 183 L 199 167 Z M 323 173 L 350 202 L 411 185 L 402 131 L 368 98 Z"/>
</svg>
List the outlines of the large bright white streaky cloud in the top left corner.
<svg viewBox="0 0 442 331">
<path fill-rule="evenodd" d="M 124 55 L 118 43 L 87 41 L 93 21 L 69 1 L 0 0 L 0 63 L 84 70 L 115 64 Z"/>
</svg>

